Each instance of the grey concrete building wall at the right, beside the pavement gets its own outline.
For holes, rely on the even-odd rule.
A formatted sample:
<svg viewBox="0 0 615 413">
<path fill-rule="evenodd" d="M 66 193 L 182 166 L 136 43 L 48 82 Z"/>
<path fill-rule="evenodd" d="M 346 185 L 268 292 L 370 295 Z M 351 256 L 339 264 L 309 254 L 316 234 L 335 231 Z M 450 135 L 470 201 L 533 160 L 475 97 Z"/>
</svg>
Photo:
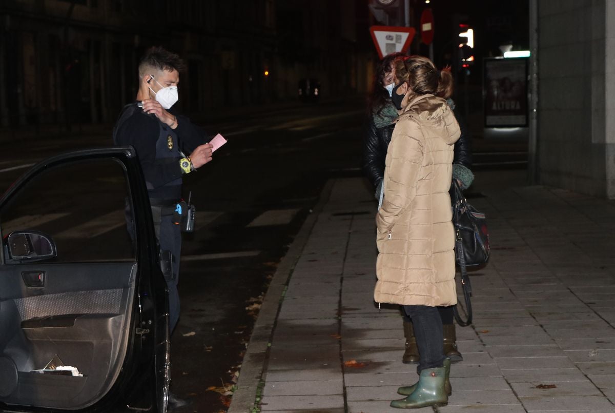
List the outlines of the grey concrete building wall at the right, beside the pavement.
<svg viewBox="0 0 615 413">
<path fill-rule="evenodd" d="M 538 181 L 615 199 L 615 1 L 536 8 Z"/>
</svg>

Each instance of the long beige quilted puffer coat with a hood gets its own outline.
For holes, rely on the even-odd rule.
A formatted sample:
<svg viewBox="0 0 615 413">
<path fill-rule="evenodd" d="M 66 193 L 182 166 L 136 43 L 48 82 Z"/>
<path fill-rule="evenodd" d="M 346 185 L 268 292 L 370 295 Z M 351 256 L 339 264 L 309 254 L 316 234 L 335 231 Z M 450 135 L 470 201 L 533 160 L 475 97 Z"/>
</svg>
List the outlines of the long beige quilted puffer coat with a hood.
<svg viewBox="0 0 615 413">
<path fill-rule="evenodd" d="M 453 305 L 455 240 L 448 190 L 459 125 L 446 101 L 434 95 L 413 99 L 395 122 L 376 215 L 374 299 Z"/>
</svg>

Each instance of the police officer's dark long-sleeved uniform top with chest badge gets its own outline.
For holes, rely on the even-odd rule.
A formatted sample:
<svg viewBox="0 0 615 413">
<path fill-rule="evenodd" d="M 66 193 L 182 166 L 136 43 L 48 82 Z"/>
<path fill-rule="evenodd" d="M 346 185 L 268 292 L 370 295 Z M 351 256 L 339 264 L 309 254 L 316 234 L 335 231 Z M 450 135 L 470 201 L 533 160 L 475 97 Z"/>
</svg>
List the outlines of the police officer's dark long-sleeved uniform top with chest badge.
<svg viewBox="0 0 615 413">
<path fill-rule="evenodd" d="M 189 155 L 209 141 L 188 118 L 175 116 L 177 128 L 171 129 L 135 102 L 125 106 L 113 131 L 116 145 L 137 150 L 152 205 L 167 206 L 181 198 L 180 150 Z"/>
</svg>

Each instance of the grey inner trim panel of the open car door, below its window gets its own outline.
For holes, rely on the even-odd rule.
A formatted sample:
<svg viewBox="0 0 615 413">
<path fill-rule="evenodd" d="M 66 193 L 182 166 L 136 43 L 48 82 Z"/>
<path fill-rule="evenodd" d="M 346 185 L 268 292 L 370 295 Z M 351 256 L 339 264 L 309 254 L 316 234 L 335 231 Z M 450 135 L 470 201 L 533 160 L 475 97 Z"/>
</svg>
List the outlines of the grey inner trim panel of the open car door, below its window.
<svg viewBox="0 0 615 413">
<path fill-rule="evenodd" d="M 46 287 L 25 287 L 20 273 L 41 267 L 46 268 Z M 2 365 L 14 364 L 18 380 L 10 378 L 14 372 L 0 372 L 0 401 L 73 409 L 93 403 L 121 368 L 137 265 L 11 269 L 0 279 L 0 358 L 6 359 Z M 34 372 L 56 356 L 82 377 Z"/>
</svg>

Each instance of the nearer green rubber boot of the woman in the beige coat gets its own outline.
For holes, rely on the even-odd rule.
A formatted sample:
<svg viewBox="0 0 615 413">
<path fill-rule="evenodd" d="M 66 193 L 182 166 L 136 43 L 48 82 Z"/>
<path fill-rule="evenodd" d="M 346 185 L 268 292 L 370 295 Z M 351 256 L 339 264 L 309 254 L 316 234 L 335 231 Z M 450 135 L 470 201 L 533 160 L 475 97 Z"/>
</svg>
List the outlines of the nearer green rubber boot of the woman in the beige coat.
<svg viewBox="0 0 615 413">
<path fill-rule="evenodd" d="M 446 406 L 448 395 L 444 390 L 446 367 L 424 369 L 415 391 L 405 399 L 394 400 L 391 407 L 397 409 L 419 409 L 426 406 Z"/>
</svg>

